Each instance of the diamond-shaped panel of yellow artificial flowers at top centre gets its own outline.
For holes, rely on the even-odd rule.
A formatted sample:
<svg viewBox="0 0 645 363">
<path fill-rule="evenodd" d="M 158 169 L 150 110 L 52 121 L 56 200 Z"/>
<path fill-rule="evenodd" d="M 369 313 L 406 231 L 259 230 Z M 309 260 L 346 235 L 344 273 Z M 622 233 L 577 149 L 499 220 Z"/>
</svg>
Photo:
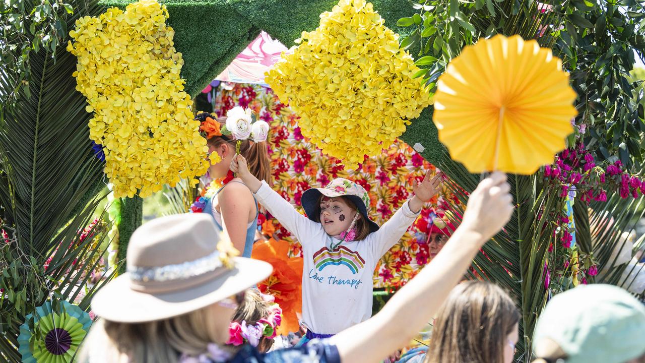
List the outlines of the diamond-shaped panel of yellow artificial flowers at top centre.
<svg viewBox="0 0 645 363">
<path fill-rule="evenodd" d="M 303 32 L 265 81 L 301 117 L 304 136 L 355 169 L 381 154 L 430 105 L 399 35 L 364 0 L 341 0 Z"/>
</svg>

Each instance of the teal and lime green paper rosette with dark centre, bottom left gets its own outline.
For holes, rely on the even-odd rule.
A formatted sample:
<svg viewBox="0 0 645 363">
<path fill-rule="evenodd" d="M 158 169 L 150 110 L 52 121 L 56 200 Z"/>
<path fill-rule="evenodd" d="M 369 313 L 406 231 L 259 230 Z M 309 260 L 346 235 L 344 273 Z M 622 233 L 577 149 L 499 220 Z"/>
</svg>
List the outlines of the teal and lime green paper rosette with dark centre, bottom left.
<svg viewBox="0 0 645 363">
<path fill-rule="evenodd" d="M 33 324 L 29 324 L 31 319 Z M 54 311 L 52 302 L 46 302 L 20 326 L 18 351 L 23 363 L 72 362 L 90 326 L 92 318 L 80 307 L 62 301 Z"/>
</svg>

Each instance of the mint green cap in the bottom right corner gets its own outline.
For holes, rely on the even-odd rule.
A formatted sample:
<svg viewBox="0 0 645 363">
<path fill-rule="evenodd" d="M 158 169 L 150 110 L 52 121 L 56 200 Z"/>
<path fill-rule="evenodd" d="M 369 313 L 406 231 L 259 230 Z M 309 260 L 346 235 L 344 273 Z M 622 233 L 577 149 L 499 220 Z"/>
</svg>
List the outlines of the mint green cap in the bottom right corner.
<svg viewBox="0 0 645 363">
<path fill-rule="evenodd" d="M 575 287 L 542 311 L 533 335 L 536 355 L 548 349 L 545 339 L 561 347 L 567 363 L 624 363 L 645 353 L 645 306 L 614 285 Z"/>
</svg>

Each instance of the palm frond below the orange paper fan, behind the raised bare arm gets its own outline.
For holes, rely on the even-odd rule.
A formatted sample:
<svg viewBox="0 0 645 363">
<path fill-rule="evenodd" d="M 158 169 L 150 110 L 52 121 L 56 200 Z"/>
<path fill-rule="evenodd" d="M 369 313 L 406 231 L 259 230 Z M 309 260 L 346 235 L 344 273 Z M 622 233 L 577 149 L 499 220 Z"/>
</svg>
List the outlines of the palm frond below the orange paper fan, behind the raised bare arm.
<svg viewBox="0 0 645 363">
<path fill-rule="evenodd" d="M 448 188 L 465 204 L 468 193 L 477 187 L 481 177 L 468 173 L 447 154 L 437 166 L 452 180 Z M 530 337 L 548 298 L 544 287 L 544 263 L 553 242 L 551 230 L 545 228 L 548 213 L 541 212 L 561 208 L 562 200 L 557 194 L 546 193 L 537 175 L 509 175 L 508 182 L 515 196 L 515 212 L 506 227 L 475 256 L 467 278 L 495 282 L 515 299 L 522 313 L 520 336 L 524 337 L 517 344 L 516 358 L 530 360 Z M 458 224 L 464 211 L 459 206 L 455 208 L 457 218 L 453 222 Z"/>
</svg>

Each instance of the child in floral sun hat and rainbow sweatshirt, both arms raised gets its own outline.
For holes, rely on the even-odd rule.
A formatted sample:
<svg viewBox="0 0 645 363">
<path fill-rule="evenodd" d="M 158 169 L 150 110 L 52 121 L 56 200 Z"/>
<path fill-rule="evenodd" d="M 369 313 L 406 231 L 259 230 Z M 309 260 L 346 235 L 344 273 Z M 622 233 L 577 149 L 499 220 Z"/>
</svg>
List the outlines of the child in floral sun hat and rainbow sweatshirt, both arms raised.
<svg viewBox="0 0 645 363">
<path fill-rule="evenodd" d="M 307 214 L 303 216 L 257 180 L 243 156 L 233 158 L 231 170 L 303 246 L 303 342 L 331 337 L 370 318 L 377 262 L 412 225 L 441 182 L 441 175 L 431 179 L 426 173 L 413 185 L 415 195 L 379 227 L 370 220 L 370 198 L 357 183 L 337 178 L 324 188 L 308 189 L 301 199 Z"/>
</svg>

